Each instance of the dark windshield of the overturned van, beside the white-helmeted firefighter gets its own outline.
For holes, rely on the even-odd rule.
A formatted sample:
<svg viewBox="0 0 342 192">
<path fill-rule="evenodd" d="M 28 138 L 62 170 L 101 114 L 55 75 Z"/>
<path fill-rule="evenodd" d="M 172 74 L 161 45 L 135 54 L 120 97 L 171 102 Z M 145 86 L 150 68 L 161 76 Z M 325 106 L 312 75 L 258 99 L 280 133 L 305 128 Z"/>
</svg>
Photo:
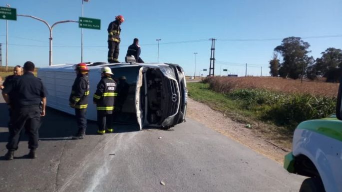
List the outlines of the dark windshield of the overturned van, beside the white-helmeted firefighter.
<svg viewBox="0 0 342 192">
<path fill-rule="evenodd" d="M 135 111 L 135 89 L 139 66 L 112 68 L 112 78 L 117 83 L 114 103 L 114 122 L 137 124 Z"/>
</svg>

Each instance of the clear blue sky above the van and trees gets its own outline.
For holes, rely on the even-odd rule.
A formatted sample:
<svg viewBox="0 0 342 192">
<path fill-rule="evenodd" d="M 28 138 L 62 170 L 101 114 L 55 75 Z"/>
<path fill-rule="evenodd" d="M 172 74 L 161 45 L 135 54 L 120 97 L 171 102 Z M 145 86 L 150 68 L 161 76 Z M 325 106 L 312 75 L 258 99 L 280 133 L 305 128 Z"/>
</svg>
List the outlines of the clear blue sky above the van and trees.
<svg viewBox="0 0 342 192">
<path fill-rule="evenodd" d="M 78 20 L 81 0 L 1 0 L 17 14 L 33 15 L 50 25 L 60 20 Z M 140 39 L 145 62 L 180 64 L 187 75 L 209 72 L 211 41 L 215 42 L 215 74 L 269 75 L 273 49 L 289 36 L 304 38 L 315 58 L 328 47 L 342 48 L 342 0 L 89 0 L 84 2 L 84 17 L 101 19 L 101 30 L 84 29 L 83 61 L 106 61 L 107 27 L 115 15 L 122 14 L 119 60 L 124 61 L 133 38 Z M 2 65 L 5 63 L 5 20 L 0 20 Z M 62 23 L 53 28 L 53 63 L 80 62 L 81 30 L 78 23 Z M 26 60 L 37 66 L 48 65 L 47 26 L 28 17 L 8 21 L 8 64 Z M 254 39 L 254 40 L 246 40 Z M 275 39 L 275 40 L 255 40 Z M 242 41 L 241 41 L 242 40 Z M 184 42 L 188 41 L 188 42 Z M 227 72 L 221 72 L 226 75 Z"/>
</svg>

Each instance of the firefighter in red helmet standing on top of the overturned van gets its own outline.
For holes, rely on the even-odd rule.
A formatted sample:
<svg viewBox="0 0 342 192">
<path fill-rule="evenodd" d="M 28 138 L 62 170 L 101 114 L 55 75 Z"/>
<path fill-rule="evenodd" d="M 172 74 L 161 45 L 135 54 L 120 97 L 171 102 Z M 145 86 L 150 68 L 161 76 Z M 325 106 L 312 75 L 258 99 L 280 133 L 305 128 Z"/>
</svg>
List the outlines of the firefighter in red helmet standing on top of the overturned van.
<svg viewBox="0 0 342 192">
<path fill-rule="evenodd" d="M 122 15 L 117 15 L 115 20 L 108 26 L 108 63 L 119 63 L 119 45 L 120 45 L 120 24 L 123 23 Z"/>
</svg>

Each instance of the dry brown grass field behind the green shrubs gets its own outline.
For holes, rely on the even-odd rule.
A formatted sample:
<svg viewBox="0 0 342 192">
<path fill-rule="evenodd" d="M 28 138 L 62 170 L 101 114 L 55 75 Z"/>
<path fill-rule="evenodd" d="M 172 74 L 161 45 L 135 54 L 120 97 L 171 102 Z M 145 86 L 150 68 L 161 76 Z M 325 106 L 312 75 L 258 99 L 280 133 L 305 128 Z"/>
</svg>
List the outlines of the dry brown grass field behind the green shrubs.
<svg viewBox="0 0 342 192">
<path fill-rule="evenodd" d="M 337 97 L 338 83 L 303 81 L 279 77 L 212 77 L 206 80 L 211 89 L 229 93 L 235 89 L 259 88 L 283 93 L 310 94 L 313 96 Z"/>
</svg>

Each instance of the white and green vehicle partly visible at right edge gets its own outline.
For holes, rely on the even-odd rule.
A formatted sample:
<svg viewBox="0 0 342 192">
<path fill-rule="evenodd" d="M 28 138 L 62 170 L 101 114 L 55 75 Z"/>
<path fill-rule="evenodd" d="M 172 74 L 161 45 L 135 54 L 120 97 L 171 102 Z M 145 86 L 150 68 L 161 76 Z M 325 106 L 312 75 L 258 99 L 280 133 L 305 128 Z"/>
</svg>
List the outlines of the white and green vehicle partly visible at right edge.
<svg viewBox="0 0 342 192">
<path fill-rule="evenodd" d="M 340 81 L 341 82 L 341 81 Z M 342 192 L 342 83 L 336 115 L 300 123 L 284 168 L 309 177 L 300 192 Z"/>
</svg>

